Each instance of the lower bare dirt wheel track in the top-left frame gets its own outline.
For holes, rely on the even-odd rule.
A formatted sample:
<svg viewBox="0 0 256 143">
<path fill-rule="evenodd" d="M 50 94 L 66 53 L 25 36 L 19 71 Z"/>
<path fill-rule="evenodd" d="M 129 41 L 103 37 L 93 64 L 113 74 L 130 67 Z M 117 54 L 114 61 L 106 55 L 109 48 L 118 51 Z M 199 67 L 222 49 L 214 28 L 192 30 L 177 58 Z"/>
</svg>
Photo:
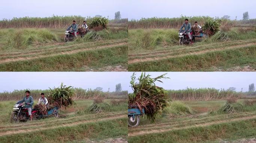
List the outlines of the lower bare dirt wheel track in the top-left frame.
<svg viewBox="0 0 256 143">
<path fill-rule="evenodd" d="M 104 46 L 97 46 L 95 48 L 86 48 L 86 49 L 78 49 L 78 50 L 73 50 L 73 51 L 65 51 L 61 53 L 54 53 L 54 54 L 49 54 L 49 55 L 38 55 L 37 57 L 18 57 L 18 58 L 6 58 L 4 60 L 0 61 L 0 64 L 2 63 L 9 63 L 9 62 L 14 62 L 14 61 L 24 61 L 24 60 L 33 60 L 33 59 L 38 59 L 38 58 L 45 58 L 45 57 L 53 57 L 57 55 L 63 55 L 63 54 L 75 54 L 83 51 L 90 51 L 90 50 L 100 50 L 103 48 L 110 48 L 110 47 L 118 47 L 122 45 L 127 45 L 127 42 L 122 42 L 118 44 L 111 44 L 111 45 L 104 45 Z"/>
</svg>

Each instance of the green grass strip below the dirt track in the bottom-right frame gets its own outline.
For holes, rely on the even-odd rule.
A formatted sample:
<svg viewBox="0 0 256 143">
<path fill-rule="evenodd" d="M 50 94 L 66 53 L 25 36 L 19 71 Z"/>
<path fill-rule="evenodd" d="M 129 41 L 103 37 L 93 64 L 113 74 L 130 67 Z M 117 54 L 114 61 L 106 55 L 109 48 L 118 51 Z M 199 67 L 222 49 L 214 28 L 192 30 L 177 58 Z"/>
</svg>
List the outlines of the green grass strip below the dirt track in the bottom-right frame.
<svg viewBox="0 0 256 143">
<path fill-rule="evenodd" d="M 198 143 L 217 139 L 253 138 L 256 133 L 256 119 L 215 124 L 206 127 L 192 127 L 164 133 L 128 137 L 131 143 Z"/>
</svg>

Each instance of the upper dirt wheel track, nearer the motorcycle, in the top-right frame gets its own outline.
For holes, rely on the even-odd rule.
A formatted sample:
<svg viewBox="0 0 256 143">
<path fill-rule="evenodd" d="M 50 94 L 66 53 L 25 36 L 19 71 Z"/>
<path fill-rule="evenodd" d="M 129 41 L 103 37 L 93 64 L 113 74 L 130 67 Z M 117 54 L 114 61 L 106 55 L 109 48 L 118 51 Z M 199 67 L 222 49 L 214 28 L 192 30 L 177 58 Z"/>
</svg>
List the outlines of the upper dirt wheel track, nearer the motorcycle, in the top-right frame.
<svg viewBox="0 0 256 143">
<path fill-rule="evenodd" d="M 231 45 L 236 45 L 236 44 L 246 44 L 246 43 L 252 43 L 252 42 L 256 42 L 256 39 L 250 39 L 250 40 L 240 40 L 240 41 L 231 41 L 231 42 L 217 42 L 217 43 L 211 43 L 211 44 L 207 44 L 207 47 L 209 46 L 216 46 L 216 45 L 221 45 L 223 46 L 231 46 Z M 180 51 L 180 50 L 190 50 L 190 49 L 195 49 L 195 48 L 202 48 L 202 47 L 206 47 L 205 45 L 197 45 L 194 47 L 184 47 L 184 48 L 180 48 L 179 47 L 171 47 L 170 49 L 161 49 L 161 50 L 157 50 L 157 51 L 150 51 L 150 52 L 144 52 L 144 53 L 133 53 L 133 54 L 128 54 L 129 57 L 136 57 L 136 56 L 144 56 L 144 55 L 154 55 L 154 54 L 160 54 L 160 53 L 168 53 L 168 52 L 173 52 L 173 51 Z"/>
</svg>

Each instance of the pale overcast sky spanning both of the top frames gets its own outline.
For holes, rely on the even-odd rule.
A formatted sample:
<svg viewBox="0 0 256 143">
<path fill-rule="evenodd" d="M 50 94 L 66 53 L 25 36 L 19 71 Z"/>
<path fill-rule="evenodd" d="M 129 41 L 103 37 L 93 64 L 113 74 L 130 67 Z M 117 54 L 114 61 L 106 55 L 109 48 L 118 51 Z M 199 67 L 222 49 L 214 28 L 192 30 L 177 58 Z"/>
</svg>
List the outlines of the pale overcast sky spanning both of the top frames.
<svg viewBox="0 0 256 143">
<path fill-rule="evenodd" d="M 114 19 L 120 11 L 122 18 L 173 18 L 183 16 L 231 16 L 243 18 L 249 12 L 256 18 L 256 0 L 3 0 L 0 5 L 0 19 L 13 17 L 49 17 L 54 15 L 109 16 Z"/>
</svg>

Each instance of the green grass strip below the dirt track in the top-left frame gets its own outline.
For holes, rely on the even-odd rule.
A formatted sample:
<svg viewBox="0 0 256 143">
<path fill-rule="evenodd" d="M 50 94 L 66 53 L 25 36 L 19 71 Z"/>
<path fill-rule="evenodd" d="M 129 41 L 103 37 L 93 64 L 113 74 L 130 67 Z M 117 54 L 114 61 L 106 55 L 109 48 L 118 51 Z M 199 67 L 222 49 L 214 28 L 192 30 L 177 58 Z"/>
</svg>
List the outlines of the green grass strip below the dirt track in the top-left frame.
<svg viewBox="0 0 256 143">
<path fill-rule="evenodd" d="M 86 71 L 84 68 L 127 65 L 127 46 L 56 55 L 0 64 L 0 71 Z"/>
</svg>

